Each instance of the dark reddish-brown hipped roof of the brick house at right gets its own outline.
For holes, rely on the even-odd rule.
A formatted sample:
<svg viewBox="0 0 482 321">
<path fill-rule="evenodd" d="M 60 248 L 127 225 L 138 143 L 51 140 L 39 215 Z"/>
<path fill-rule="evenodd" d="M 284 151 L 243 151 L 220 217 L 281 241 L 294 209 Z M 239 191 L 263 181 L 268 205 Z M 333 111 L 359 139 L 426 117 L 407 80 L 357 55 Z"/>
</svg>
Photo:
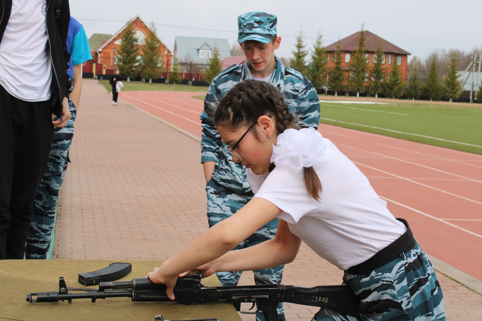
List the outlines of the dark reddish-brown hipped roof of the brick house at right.
<svg viewBox="0 0 482 321">
<path fill-rule="evenodd" d="M 376 47 L 378 47 L 378 42 L 381 41 L 382 43 L 382 50 L 385 52 L 392 52 L 398 54 L 406 54 L 409 55 L 410 52 L 404 51 L 402 48 L 395 46 L 393 43 L 388 42 L 387 40 L 378 37 L 377 35 L 371 33 L 368 30 L 364 31 L 365 33 L 365 48 L 367 51 L 375 52 Z M 341 44 L 341 51 L 354 51 L 358 47 L 358 38 L 360 37 L 360 31 L 355 32 L 353 35 L 348 36 L 347 38 L 340 39 Z M 336 51 L 336 44 L 332 43 L 331 45 L 326 47 L 326 51 L 333 52 Z"/>
</svg>

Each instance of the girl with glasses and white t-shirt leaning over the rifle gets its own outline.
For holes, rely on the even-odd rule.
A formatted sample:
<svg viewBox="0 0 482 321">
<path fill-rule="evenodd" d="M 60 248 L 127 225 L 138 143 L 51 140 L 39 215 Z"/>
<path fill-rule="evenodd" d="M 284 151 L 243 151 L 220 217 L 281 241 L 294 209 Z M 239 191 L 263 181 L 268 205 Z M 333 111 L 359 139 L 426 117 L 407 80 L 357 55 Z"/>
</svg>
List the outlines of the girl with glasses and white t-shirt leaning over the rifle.
<svg viewBox="0 0 482 321">
<path fill-rule="evenodd" d="M 292 262 L 304 241 L 344 270 L 361 320 L 445 320 L 435 271 L 403 219 L 362 172 L 314 128 L 299 129 L 272 85 L 245 80 L 219 102 L 214 122 L 254 198 L 148 273 L 173 298 L 177 275 L 267 269 Z M 273 144 L 276 143 L 276 146 Z M 230 251 L 280 218 L 274 239 Z M 321 308 L 314 320 L 360 320 Z"/>
</svg>

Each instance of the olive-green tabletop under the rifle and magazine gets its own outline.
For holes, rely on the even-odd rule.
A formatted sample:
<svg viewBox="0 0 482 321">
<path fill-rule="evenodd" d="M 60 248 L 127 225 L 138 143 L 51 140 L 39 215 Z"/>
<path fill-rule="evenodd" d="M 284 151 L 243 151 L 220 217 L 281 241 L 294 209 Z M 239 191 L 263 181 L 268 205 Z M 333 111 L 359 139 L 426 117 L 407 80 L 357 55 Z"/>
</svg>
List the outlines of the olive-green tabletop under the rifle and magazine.
<svg viewBox="0 0 482 321">
<path fill-rule="evenodd" d="M 0 260 L 0 320 L 136 320 L 153 321 L 162 314 L 167 320 L 218 318 L 241 321 L 230 303 L 202 303 L 189 306 L 176 302 L 132 302 L 128 297 L 72 300 L 54 303 L 29 303 L 26 295 L 58 291 L 58 279 L 64 277 L 68 287 L 82 286 L 78 273 L 107 267 L 107 260 Z M 122 280 L 143 278 L 161 261 L 132 261 L 132 271 Z M 220 286 L 217 277 L 203 279 L 206 286 Z M 92 286 L 96 287 L 96 286 Z"/>
</svg>

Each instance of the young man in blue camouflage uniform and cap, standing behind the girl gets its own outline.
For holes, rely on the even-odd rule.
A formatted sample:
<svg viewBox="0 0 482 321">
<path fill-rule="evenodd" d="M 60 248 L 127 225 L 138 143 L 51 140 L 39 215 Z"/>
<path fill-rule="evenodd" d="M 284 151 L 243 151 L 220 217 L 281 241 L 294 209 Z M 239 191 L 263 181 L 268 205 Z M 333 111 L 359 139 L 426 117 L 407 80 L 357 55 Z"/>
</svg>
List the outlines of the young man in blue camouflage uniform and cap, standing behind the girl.
<svg viewBox="0 0 482 321">
<path fill-rule="evenodd" d="M 246 181 L 246 173 L 241 163 L 233 162 L 231 155 L 209 116 L 221 98 L 238 82 L 246 79 L 267 81 L 278 87 L 286 96 L 291 112 L 299 117 L 301 127 L 318 128 L 320 123 L 320 100 L 311 82 L 300 72 L 285 67 L 274 55 L 280 47 L 281 37 L 276 35 L 277 17 L 264 12 L 252 12 L 238 17 L 238 42 L 246 56 L 244 64 L 232 65 L 215 77 L 204 100 L 202 121 L 201 163 L 206 177 L 208 199 L 207 216 L 209 226 L 230 217 L 253 197 Z M 235 250 L 259 244 L 272 239 L 278 227 L 275 219 L 251 235 Z M 254 272 L 256 284 L 281 283 L 283 266 L 257 270 Z M 224 286 L 236 285 L 241 271 L 218 272 Z M 282 304 L 278 306 L 280 320 L 284 320 Z M 258 321 L 264 321 L 258 312 Z"/>
</svg>

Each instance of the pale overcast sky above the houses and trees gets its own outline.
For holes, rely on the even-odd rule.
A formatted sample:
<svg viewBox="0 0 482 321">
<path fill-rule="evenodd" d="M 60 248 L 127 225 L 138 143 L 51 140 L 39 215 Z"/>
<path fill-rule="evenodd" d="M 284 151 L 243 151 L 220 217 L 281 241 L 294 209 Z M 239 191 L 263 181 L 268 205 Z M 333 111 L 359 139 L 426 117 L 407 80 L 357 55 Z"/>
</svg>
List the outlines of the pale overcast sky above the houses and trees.
<svg viewBox="0 0 482 321">
<path fill-rule="evenodd" d="M 318 32 L 329 45 L 364 29 L 412 56 L 424 58 L 436 49 L 470 51 L 482 45 L 481 0 L 70 0 L 70 13 L 87 37 L 113 34 L 139 15 L 158 24 L 158 36 L 174 49 L 175 36 L 237 40 L 237 17 L 251 11 L 278 16 L 281 46 L 289 57 L 300 27 L 312 47 Z"/>
</svg>

